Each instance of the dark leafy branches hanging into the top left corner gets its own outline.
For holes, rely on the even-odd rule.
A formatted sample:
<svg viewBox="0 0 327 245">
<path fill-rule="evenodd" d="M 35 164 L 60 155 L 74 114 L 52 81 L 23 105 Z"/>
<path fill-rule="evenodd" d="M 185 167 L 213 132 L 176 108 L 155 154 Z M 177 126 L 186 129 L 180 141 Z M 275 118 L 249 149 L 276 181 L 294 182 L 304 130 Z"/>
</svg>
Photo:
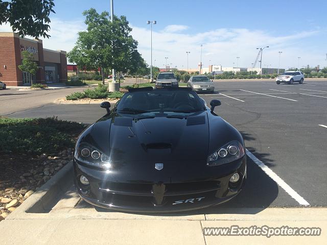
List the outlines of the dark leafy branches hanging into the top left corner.
<svg viewBox="0 0 327 245">
<path fill-rule="evenodd" d="M 49 38 L 49 15 L 55 13 L 54 6 L 54 0 L 0 0 L 0 25 L 9 22 L 12 30 L 22 37 Z"/>
</svg>

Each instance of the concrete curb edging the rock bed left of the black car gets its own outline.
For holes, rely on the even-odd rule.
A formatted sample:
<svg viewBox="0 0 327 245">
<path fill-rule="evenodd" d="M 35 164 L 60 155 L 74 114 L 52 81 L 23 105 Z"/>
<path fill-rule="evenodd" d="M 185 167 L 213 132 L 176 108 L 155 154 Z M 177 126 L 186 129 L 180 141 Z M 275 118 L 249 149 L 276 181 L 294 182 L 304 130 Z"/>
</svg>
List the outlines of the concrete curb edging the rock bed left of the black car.
<svg viewBox="0 0 327 245">
<path fill-rule="evenodd" d="M 70 161 L 54 177 L 16 208 L 15 211 L 9 214 L 6 219 L 21 219 L 26 216 L 26 213 L 49 212 L 51 203 L 73 183 L 72 174 L 73 161 Z"/>
</svg>

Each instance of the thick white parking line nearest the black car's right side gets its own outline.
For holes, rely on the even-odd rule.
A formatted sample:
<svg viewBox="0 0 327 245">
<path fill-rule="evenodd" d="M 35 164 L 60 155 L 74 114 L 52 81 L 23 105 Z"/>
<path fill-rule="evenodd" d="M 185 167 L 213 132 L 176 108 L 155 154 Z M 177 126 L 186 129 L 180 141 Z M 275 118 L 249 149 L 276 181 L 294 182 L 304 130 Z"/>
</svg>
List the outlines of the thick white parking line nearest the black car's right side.
<svg viewBox="0 0 327 245">
<path fill-rule="evenodd" d="M 292 189 L 284 180 L 282 180 L 278 175 L 274 173 L 267 165 L 256 158 L 249 150 L 246 149 L 246 155 L 251 158 L 251 160 L 258 165 L 273 181 L 275 181 L 279 186 L 281 186 L 296 202 L 303 206 L 309 206 L 310 204 L 303 199 L 295 190 Z"/>
</svg>

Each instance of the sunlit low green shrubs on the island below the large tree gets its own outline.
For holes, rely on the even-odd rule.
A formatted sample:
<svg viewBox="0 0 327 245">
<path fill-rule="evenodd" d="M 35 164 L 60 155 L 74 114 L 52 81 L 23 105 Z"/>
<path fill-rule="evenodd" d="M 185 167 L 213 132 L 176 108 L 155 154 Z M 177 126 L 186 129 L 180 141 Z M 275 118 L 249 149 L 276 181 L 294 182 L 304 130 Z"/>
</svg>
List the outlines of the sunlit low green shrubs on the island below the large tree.
<svg viewBox="0 0 327 245">
<path fill-rule="evenodd" d="M 109 92 L 108 85 L 98 84 L 94 89 L 85 89 L 83 92 L 75 92 L 66 96 L 68 101 L 76 101 L 83 98 L 89 99 L 120 99 L 124 93 L 122 92 Z"/>
</svg>

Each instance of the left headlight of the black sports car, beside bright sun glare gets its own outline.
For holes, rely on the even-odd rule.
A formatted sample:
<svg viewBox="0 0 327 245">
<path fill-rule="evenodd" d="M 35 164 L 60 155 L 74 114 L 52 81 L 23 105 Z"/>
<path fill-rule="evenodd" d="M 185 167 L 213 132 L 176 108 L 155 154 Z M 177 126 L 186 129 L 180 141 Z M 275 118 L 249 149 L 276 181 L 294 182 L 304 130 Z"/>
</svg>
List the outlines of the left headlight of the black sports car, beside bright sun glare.
<svg viewBox="0 0 327 245">
<path fill-rule="evenodd" d="M 90 166 L 110 168 L 110 158 L 94 146 L 85 142 L 76 147 L 74 157 L 76 160 Z"/>
</svg>

